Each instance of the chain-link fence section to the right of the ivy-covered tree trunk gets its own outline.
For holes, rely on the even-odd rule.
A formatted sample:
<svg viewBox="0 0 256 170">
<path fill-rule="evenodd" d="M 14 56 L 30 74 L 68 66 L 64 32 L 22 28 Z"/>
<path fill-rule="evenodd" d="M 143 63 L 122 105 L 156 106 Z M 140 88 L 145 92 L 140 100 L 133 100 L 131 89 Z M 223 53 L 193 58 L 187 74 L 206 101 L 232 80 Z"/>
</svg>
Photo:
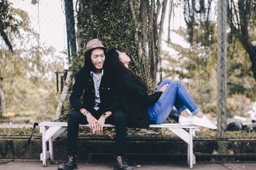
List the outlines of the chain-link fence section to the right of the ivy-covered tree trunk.
<svg viewBox="0 0 256 170">
<path fill-rule="evenodd" d="M 200 109 L 215 124 L 218 123 L 219 131 L 225 130 L 228 125 L 226 134 L 223 131 L 219 133 L 221 138 L 252 138 L 253 133 L 241 133 L 240 136 L 230 131 L 240 129 L 252 132 L 253 127 L 255 129 L 255 64 L 252 61 L 255 52 L 250 50 L 255 48 L 255 32 L 252 29 L 255 10 L 248 6 L 253 6 L 253 1 L 243 1 L 244 4 L 242 1 L 208 1 L 211 2 L 211 9 L 207 8 L 209 4 L 205 2 L 204 13 L 199 12 L 202 8 L 198 2 L 184 1 L 184 8 L 187 8 L 184 13 L 184 8 L 179 4 L 170 5 L 174 6 L 176 20 L 185 18 L 186 22 L 182 22 L 187 29 L 179 28 L 182 24 L 174 23 L 174 19 L 171 19 L 174 24 L 171 26 L 171 41 L 166 38 L 170 48 L 162 52 L 164 76 L 182 81 Z M 245 15 L 239 16 L 242 9 L 247 11 L 247 18 Z M 173 13 L 169 17 L 173 17 Z M 244 22 L 248 24 L 248 34 L 242 32 L 243 28 L 238 22 L 242 17 L 248 22 Z M 192 37 L 189 24 L 193 24 Z M 245 35 L 247 38 L 244 38 Z M 251 43 L 252 46 L 246 48 L 244 43 Z"/>
</svg>

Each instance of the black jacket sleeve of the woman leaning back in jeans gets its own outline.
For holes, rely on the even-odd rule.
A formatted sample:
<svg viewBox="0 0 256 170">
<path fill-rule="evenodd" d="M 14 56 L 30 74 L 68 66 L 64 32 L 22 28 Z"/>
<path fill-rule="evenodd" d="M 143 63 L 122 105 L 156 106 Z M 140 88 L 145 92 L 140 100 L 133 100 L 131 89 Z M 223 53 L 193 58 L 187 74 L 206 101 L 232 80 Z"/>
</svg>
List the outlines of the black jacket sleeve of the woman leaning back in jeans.
<svg viewBox="0 0 256 170">
<path fill-rule="evenodd" d="M 140 85 L 131 75 L 125 74 L 121 81 L 123 90 L 128 95 L 132 96 L 132 99 L 138 104 L 150 106 L 157 102 L 162 92 L 155 92 L 154 94 L 148 95 L 145 88 Z"/>
</svg>

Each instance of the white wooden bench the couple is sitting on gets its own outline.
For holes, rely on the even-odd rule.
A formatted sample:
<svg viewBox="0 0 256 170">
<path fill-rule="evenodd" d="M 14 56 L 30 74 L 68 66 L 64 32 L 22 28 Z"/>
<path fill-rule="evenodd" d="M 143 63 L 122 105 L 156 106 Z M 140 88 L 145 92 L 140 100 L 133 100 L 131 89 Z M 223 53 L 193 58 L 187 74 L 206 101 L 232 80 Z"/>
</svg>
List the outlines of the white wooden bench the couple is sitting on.
<svg viewBox="0 0 256 170">
<path fill-rule="evenodd" d="M 81 127 L 89 127 L 88 124 L 80 125 Z M 54 160 L 53 144 L 52 141 L 58 138 L 62 132 L 67 129 L 67 122 L 41 122 L 39 123 L 40 133 L 42 133 L 42 153 L 40 154 L 40 160 L 43 161 L 43 166 L 47 166 L 47 159 L 51 162 Z M 115 125 L 105 124 L 104 127 L 115 127 Z M 188 164 L 189 168 L 193 169 L 193 164 L 196 163 L 195 155 L 193 154 L 193 134 L 195 129 L 198 128 L 195 125 L 179 125 L 179 124 L 161 124 L 150 125 L 150 127 L 168 128 L 175 133 L 179 138 L 188 143 Z M 186 131 L 185 129 L 188 129 Z M 49 150 L 47 150 L 47 142 L 49 143 Z"/>
</svg>

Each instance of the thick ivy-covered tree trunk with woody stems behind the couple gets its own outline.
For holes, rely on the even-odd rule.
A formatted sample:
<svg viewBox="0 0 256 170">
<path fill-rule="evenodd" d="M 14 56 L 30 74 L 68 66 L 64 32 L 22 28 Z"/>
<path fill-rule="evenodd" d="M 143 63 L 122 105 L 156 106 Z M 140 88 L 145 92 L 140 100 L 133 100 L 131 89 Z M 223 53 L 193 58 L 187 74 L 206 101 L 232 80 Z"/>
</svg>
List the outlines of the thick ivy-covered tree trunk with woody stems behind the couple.
<svg viewBox="0 0 256 170">
<path fill-rule="evenodd" d="M 166 4 L 167 0 L 163 3 L 140 0 L 79 1 L 79 48 L 83 48 L 90 39 L 99 38 L 104 45 L 127 52 L 132 59 L 132 69 L 154 87 Z M 83 62 L 82 56 L 80 61 Z"/>
</svg>

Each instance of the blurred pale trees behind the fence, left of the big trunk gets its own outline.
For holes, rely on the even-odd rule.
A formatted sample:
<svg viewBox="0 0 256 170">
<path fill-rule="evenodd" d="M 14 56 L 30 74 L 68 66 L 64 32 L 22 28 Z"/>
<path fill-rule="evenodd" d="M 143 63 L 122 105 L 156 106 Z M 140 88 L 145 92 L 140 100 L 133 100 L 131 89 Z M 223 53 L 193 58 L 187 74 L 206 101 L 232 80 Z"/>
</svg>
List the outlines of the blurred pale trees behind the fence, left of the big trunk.
<svg viewBox="0 0 256 170">
<path fill-rule="evenodd" d="M 26 11 L 8 1 L 0 8 L 0 116 L 13 117 L 12 122 L 51 120 L 47 111 L 57 103 L 54 71 L 62 67 L 60 58 L 40 44 Z"/>
</svg>

